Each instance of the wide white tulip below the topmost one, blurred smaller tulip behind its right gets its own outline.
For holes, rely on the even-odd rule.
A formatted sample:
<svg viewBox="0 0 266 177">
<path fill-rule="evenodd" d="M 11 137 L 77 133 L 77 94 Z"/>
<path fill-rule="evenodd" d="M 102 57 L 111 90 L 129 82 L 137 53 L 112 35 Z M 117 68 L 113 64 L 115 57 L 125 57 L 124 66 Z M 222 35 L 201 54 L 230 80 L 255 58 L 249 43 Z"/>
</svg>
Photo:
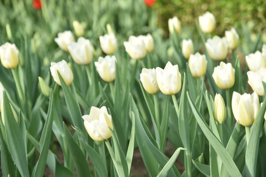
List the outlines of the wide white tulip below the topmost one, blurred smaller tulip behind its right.
<svg viewBox="0 0 266 177">
<path fill-rule="evenodd" d="M 214 36 L 205 43 L 209 56 L 216 61 L 224 60 L 228 54 L 225 37 Z"/>
</svg>

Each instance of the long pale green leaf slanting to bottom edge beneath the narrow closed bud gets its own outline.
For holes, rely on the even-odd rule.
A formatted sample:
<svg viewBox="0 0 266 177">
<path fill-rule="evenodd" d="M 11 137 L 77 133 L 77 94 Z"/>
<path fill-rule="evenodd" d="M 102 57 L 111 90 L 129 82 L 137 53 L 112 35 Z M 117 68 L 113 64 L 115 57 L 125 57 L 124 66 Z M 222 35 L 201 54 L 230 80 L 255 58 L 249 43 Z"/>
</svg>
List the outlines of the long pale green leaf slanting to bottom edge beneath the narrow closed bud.
<svg viewBox="0 0 266 177">
<path fill-rule="evenodd" d="M 199 113 L 199 110 L 196 108 L 195 104 L 192 102 L 189 93 L 187 92 L 187 97 L 189 104 L 191 106 L 192 112 L 195 116 L 195 118 L 198 121 L 198 124 L 204 133 L 205 137 L 210 142 L 211 146 L 214 148 L 220 159 L 225 165 L 225 168 L 229 172 L 229 174 L 232 177 L 241 177 L 241 174 L 236 167 L 235 163 L 233 162 L 233 158 L 230 156 L 230 154 L 226 151 L 226 149 L 223 147 L 221 142 L 217 139 L 217 137 L 212 133 L 208 125 L 206 124 L 205 120 L 202 118 L 202 116 Z"/>
</svg>

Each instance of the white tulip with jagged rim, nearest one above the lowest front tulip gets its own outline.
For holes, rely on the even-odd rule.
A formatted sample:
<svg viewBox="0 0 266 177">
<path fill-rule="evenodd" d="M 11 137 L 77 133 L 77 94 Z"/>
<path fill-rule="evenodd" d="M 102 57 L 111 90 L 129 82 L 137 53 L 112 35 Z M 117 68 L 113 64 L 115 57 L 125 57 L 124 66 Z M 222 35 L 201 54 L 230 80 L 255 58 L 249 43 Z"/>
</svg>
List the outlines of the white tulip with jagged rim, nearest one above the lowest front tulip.
<svg viewBox="0 0 266 177">
<path fill-rule="evenodd" d="M 98 62 L 95 62 L 96 69 L 101 77 L 106 82 L 115 80 L 115 56 L 99 57 Z"/>
</svg>

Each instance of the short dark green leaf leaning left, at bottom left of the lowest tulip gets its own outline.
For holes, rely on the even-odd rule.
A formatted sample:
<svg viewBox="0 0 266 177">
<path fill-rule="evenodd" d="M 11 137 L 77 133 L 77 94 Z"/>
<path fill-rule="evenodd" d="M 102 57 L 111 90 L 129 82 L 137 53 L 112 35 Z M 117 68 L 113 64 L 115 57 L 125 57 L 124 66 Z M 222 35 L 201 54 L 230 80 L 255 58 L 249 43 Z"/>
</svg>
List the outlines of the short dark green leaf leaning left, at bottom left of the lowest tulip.
<svg viewBox="0 0 266 177">
<path fill-rule="evenodd" d="M 70 154 L 75 163 L 75 167 L 77 170 L 77 174 L 79 177 L 90 177 L 90 169 L 89 164 L 87 162 L 86 156 L 83 154 L 82 150 L 79 148 L 69 130 L 66 127 L 65 122 L 63 123 L 64 131 L 65 131 L 65 139 L 67 146 L 69 148 Z"/>
</svg>

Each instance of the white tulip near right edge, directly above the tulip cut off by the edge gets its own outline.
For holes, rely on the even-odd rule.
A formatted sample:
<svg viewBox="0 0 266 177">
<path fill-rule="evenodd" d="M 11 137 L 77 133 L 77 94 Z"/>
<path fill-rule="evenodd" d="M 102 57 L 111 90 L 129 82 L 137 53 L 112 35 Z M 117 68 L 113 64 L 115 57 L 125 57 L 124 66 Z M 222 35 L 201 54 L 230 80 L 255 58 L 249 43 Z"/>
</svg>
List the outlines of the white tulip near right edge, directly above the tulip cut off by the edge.
<svg viewBox="0 0 266 177">
<path fill-rule="evenodd" d="M 266 59 L 260 51 L 246 56 L 246 62 L 250 71 L 257 71 L 260 67 L 266 67 Z"/>
</svg>

